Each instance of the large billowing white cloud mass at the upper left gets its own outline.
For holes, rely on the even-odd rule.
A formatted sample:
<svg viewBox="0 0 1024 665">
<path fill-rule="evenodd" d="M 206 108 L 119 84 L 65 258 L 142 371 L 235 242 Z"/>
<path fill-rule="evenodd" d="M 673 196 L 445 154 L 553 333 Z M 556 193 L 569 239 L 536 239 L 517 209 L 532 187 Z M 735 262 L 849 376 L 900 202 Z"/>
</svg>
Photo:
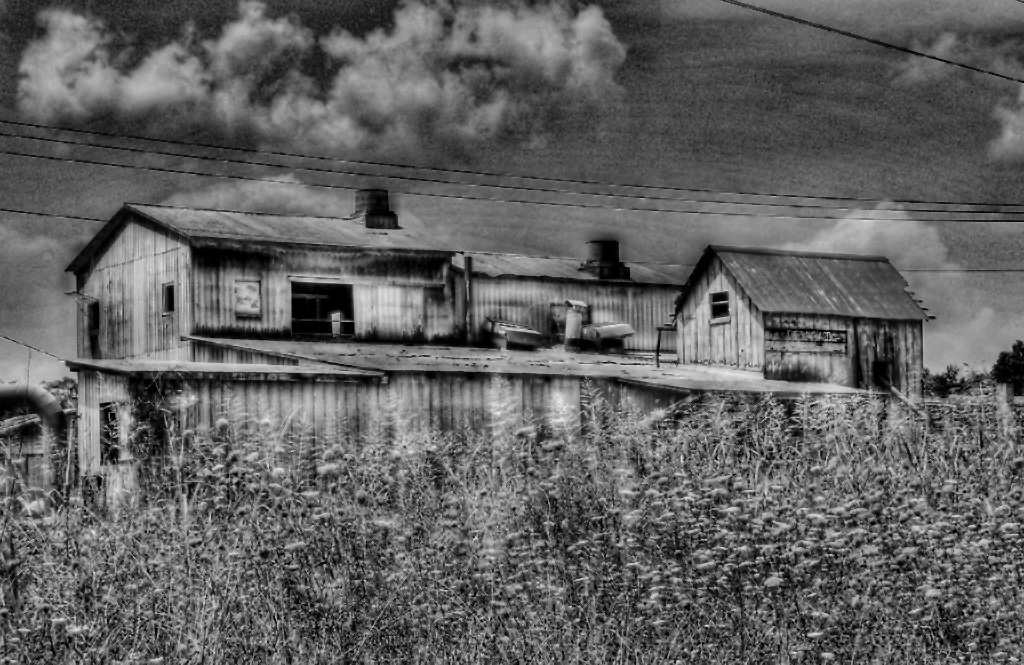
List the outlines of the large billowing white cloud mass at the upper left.
<svg viewBox="0 0 1024 665">
<path fill-rule="evenodd" d="M 625 47 L 597 7 L 410 1 L 394 24 L 318 39 L 255 0 L 215 39 L 185 32 L 138 57 L 99 22 L 39 14 L 18 103 L 38 120 L 114 118 L 167 131 L 217 129 L 267 142 L 372 153 L 529 141 L 552 121 L 620 94 Z M 307 59 L 328 64 L 315 77 Z"/>
</svg>

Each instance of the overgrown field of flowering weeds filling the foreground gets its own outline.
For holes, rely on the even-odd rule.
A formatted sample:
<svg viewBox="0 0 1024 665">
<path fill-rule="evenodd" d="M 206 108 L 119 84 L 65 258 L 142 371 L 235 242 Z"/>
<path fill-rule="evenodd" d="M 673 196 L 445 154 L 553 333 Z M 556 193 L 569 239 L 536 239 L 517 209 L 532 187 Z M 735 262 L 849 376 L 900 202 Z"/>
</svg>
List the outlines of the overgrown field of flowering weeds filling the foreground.
<svg viewBox="0 0 1024 665">
<path fill-rule="evenodd" d="M 931 426 L 885 411 L 710 397 L 659 418 L 594 394 L 582 426 L 392 421 L 327 449 L 223 420 L 117 519 L 6 511 L 0 653 L 1020 662 L 1017 423 L 976 403 Z"/>
</svg>

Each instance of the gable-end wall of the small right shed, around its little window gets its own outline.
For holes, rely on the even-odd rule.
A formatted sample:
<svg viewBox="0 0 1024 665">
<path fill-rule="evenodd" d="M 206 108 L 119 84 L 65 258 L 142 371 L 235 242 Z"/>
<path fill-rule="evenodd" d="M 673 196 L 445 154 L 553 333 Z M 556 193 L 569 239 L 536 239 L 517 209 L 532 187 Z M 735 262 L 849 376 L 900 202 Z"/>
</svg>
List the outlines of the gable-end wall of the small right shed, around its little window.
<svg viewBox="0 0 1024 665">
<path fill-rule="evenodd" d="M 710 294 L 729 294 L 729 317 L 712 321 Z M 676 321 L 682 363 L 763 368 L 764 321 L 761 311 L 714 257 L 682 303 Z"/>
</svg>

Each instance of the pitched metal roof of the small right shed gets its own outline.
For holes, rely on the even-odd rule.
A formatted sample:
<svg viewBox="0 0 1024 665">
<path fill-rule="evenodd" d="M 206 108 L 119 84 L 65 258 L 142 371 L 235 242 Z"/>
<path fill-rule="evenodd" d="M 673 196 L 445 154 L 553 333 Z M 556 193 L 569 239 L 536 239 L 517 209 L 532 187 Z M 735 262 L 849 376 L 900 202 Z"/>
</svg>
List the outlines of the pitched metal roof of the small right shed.
<svg viewBox="0 0 1024 665">
<path fill-rule="evenodd" d="M 766 314 L 923 321 L 928 314 L 907 293 L 906 280 L 885 256 L 822 254 L 710 245 L 687 283 L 721 259 L 754 304 Z"/>
</svg>

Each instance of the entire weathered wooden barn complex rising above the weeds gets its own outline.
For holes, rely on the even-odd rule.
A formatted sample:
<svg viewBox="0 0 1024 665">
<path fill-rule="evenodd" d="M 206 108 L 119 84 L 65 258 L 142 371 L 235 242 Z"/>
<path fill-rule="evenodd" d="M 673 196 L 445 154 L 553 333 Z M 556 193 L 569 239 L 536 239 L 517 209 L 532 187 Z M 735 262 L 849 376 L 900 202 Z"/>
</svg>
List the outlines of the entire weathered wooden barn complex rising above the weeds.
<svg viewBox="0 0 1024 665">
<path fill-rule="evenodd" d="M 780 309 L 760 286 L 776 279 L 759 273 L 774 263 L 728 276 L 719 264 L 709 250 L 687 283 L 682 266 L 620 260 L 608 240 L 590 243 L 585 259 L 458 251 L 401 228 L 381 190 L 358 192 L 344 218 L 126 204 L 68 268 L 79 303 L 79 358 L 69 361 L 79 377 L 79 472 L 120 492 L 132 485 L 139 446 L 240 416 L 280 435 L 351 441 L 385 419 L 454 430 L 480 429 L 503 410 L 519 421 L 579 414 L 587 385 L 650 408 L 694 390 L 856 393 L 870 384 L 854 360 L 841 375 L 812 354 L 854 348 L 856 367 L 877 374 L 879 352 L 846 340 L 889 349 L 897 329 L 901 343 L 915 333 L 915 345 L 881 358 L 915 368 L 906 378 L 894 369 L 894 385 L 920 378 L 920 308 L 905 317 L 915 327 L 877 323 L 892 317 L 856 297 L 860 308 Z M 861 271 L 864 288 L 884 287 L 878 300 L 896 297 L 888 263 L 857 264 L 879 266 Z M 807 283 L 777 279 L 779 292 L 785 280 Z M 902 297 L 900 316 L 916 307 Z M 706 304 L 714 311 L 695 316 Z M 712 339 L 723 325 L 733 341 Z M 755 333 L 764 341 L 751 341 Z M 658 365 L 655 350 L 676 360 L 677 337 L 681 362 Z"/>
</svg>

